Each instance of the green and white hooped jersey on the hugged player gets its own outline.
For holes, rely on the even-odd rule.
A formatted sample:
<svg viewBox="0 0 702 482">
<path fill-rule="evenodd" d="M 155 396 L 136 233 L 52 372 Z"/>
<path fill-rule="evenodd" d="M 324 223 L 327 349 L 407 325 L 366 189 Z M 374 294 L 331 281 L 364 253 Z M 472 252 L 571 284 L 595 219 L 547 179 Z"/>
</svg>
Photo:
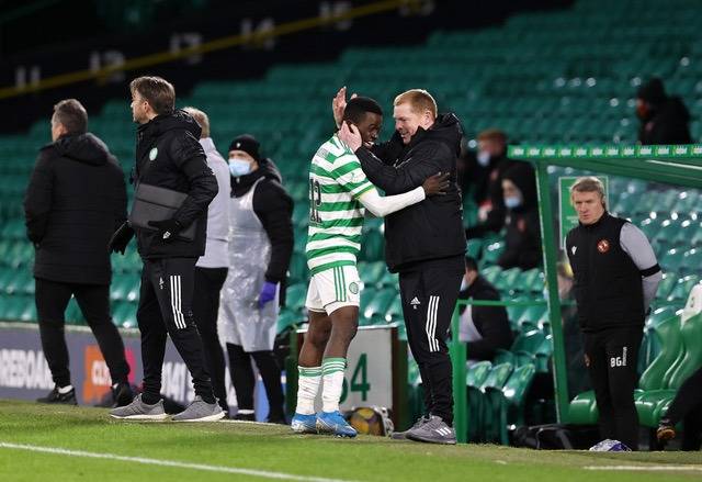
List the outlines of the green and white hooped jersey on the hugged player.
<svg viewBox="0 0 702 482">
<path fill-rule="evenodd" d="M 375 189 L 361 162 L 335 134 L 324 143 L 309 168 L 309 231 L 307 266 L 312 274 L 340 266 L 355 266 L 361 249 L 365 209 L 359 201 Z"/>
</svg>

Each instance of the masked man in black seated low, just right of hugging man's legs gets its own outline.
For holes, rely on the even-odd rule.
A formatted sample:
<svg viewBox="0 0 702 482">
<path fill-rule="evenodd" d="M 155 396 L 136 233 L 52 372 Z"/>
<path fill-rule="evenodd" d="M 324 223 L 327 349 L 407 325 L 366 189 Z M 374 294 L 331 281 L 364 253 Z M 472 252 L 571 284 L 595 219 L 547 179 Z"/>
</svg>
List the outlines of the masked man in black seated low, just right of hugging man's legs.
<svg viewBox="0 0 702 482">
<path fill-rule="evenodd" d="M 472 257 L 465 258 L 465 274 L 461 283 L 461 300 L 500 301 L 500 293 L 478 272 Z M 512 344 L 505 306 L 461 306 L 461 341 L 466 341 L 468 360 L 491 360 L 498 349 L 508 350 Z"/>
</svg>

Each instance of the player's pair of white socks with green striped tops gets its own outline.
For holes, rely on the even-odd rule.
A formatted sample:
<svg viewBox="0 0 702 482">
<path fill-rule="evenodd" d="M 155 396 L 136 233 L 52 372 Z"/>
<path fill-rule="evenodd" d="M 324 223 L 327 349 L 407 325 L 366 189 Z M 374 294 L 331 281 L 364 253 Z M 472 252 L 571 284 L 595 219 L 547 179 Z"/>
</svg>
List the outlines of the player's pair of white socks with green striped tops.
<svg viewBox="0 0 702 482">
<path fill-rule="evenodd" d="M 324 412 L 338 411 L 346 367 L 346 358 L 325 358 L 321 361 L 321 367 L 297 367 L 299 375 L 297 379 L 296 412 L 302 415 L 315 413 L 315 399 L 322 379 L 321 410 Z"/>
</svg>

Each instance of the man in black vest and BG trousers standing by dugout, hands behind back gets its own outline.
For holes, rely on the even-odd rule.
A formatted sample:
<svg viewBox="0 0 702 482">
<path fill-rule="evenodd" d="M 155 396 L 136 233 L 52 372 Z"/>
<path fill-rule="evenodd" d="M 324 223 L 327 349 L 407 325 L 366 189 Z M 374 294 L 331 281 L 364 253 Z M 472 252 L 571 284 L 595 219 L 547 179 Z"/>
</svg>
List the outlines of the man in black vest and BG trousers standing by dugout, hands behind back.
<svg viewBox="0 0 702 482">
<path fill-rule="evenodd" d="M 636 361 L 663 273 L 641 229 L 607 212 L 604 187 L 597 178 L 578 179 L 570 201 L 580 224 L 566 236 L 566 250 L 600 435 L 637 450 Z"/>
</svg>

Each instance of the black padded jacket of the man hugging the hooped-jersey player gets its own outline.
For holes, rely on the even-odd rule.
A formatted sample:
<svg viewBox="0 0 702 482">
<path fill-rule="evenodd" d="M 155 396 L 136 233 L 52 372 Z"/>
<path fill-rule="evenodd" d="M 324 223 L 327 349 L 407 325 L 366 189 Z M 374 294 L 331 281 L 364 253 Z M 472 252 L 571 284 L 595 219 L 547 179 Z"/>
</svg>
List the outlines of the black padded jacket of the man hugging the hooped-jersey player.
<svg viewBox="0 0 702 482">
<path fill-rule="evenodd" d="M 419 261 L 465 253 L 463 209 L 456 186 L 461 136 L 458 119 L 442 114 L 428 131 L 420 127 L 407 146 L 396 135 L 373 153 L 365 147 L 356 150 L 369 180 L 388 195 L 410 191 L 438 172 L 451 173 L 446 195 L 427 198 L 385 217 L 385 260 L 392 272 L 409 269 Z"/>
</svg>

